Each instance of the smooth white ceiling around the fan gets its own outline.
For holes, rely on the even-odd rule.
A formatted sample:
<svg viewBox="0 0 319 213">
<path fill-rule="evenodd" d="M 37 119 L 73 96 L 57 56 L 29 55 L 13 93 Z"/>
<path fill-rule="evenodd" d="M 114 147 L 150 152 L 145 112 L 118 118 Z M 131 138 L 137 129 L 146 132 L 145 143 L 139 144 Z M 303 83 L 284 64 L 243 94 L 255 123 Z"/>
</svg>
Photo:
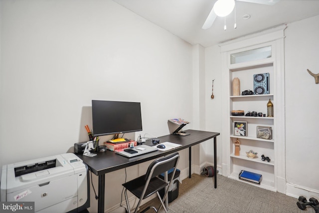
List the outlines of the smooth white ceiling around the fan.
<svg viewBox="0 0 319 213">
<path fill-rule="evenodd" d="M 204 30 L 201 27 L 216 0 L 114 1 L 190 44 L 204 47 L 319 14 L 319 0 L 280 0 L 272 6 L 236 1 L 236 29 L 233 11 L 226 17 L 226 30 L 224 18 L 218 16 L 212 27 Z M 245 14 L 251 18 L 244 20 Z"/>
</svg>

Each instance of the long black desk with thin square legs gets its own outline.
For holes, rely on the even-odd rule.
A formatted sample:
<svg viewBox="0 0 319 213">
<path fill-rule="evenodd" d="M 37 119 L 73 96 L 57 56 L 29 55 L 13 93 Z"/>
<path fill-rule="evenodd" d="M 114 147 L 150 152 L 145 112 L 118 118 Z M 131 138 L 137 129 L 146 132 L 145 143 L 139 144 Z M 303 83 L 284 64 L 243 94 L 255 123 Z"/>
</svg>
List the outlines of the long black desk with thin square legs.
<svg viewBox="0 0 319 213">
<path fill-rule="evenodd" d="M 105 174 L 120 170 L 126 167 L 137 165 L 143 162 L 154 160 L 168 154 L 178 152 L 180 150 L 189 148 L 189 178 L 191 175 L 191 147 L 199 144 L 201 142 L 207 141 L 208 139 L 214 138 L 214 169 L 217 171 L 216 163 L 216 137 L 219 133 L 216 132 L 206 132 L 206 131 L 197 131 L 197 130 L 187 130 L 187 133 L 190 135 L 179 136 L 179 135 L 165 135 L 159 137 L 160 142 L 171 142 L 176 144 L 181 144 L 182 146 L 168 151 L 155 151 L 147 153 L 144 155 L 136 156 L 133 158 L 126 158 L 124 156 L 115 154 L 115 152 L 107 151 L 105 153 L 98 153 L 95 157 L 87 157 L 83 155 L 77 155 L 81 158 L 84 163 L 88 165 L 91 171 L 99 176 L 99 200 L 98 200 L 98 213 L 104 213 L 104 194 L 105 194 Z M 154 146 L 152 142 L 146 143 L 146 145 Z M 215 188 L 217 187 L 216 175 L 214 177 Z"/>
</svg>

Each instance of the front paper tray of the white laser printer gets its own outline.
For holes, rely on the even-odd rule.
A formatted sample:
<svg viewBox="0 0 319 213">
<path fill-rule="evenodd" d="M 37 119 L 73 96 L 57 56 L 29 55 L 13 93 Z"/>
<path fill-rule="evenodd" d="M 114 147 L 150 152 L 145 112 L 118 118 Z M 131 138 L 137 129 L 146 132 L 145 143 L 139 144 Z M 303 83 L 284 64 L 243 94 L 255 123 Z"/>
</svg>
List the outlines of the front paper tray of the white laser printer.
<svg viewBox="0 0 319 213">
<path fill-rule="evenodd" d="M 39 210 L 46 209 L 55 204 L 77 197 L 77 190 L 77 176 L 71 175 L 62 179 L 42 183 L 40 185 L 35 185 L 30 188 L 7 194 L 7 201 L 35 201 L 34 209 L 35 212 L 38 212 Z M 75 201 L 77 201 L 77 199 Z M 59 210 L 59 212 L 68 212 L 74 209 L 73 202 L 70 202 L 69 206 L 62 206 L 66 209 Z"/>
</svg>

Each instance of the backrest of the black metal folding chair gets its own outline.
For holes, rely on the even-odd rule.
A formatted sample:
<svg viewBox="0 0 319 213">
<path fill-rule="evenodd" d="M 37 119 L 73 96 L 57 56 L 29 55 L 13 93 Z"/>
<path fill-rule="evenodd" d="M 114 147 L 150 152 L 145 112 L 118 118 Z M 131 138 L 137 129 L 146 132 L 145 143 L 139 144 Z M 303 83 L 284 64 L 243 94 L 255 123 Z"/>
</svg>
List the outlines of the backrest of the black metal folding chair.
<svg viewBox="0 0 319 213">
<path fill-rule="evenodd" d="M 177 166 L 178 160 L 179 160 L 179 154 L 174 153 L 172 155 L 153 161 L 148 168 L 145 179 L 147 180 L 150 177 L 150 175 L 151 175 L 151 178 L 154 178 L 160 175 L 161 173 L 164 173 L 170 170 L 171 168 L 175 168 Z"/>
</svg>

